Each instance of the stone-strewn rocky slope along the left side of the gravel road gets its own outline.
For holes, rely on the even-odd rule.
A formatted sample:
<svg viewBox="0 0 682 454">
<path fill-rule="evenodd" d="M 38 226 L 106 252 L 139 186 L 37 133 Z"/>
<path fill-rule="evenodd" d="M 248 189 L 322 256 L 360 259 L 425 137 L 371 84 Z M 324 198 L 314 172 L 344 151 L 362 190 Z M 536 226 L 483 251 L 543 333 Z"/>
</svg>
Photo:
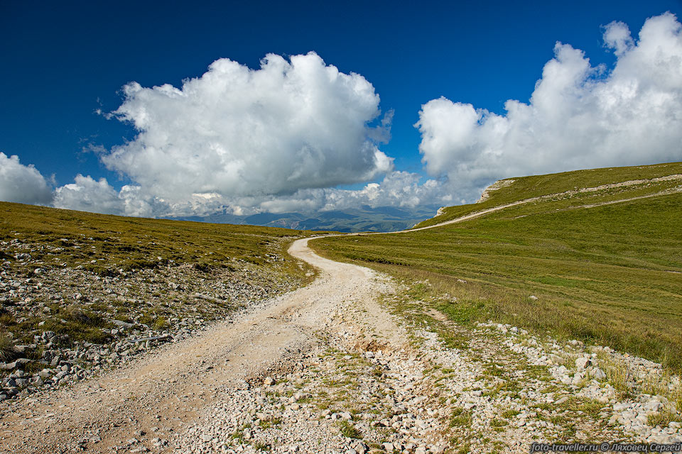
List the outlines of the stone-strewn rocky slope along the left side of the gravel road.
<svg viewBox="0 0 682 454">
<path fill-rule="evenodd" d="M 11 327 L 0 339 L 0 401 L 83 380 L 301 284 L 248 264 L 168 263 L 102 276 L 32 258 L 51 248 L 0 243 L 0 317 Z"/>
</svg>

